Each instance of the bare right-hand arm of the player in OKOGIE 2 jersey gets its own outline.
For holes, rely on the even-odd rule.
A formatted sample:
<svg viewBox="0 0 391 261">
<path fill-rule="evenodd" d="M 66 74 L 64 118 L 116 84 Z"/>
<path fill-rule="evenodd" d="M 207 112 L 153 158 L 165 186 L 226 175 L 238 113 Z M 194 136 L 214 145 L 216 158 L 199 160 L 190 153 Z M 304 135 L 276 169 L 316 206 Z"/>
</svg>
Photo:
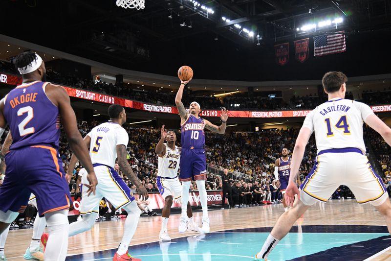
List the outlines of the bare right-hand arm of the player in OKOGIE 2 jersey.
<svg viewBox="0 0 391 261">
<path fill-rule="evenodd" d="M 53 84 L 46 85 L 45 93 L 53 104 L 59 108 L 69 147 L 76 157 L 82 162 L 88 172 L 87 179 L 90 183 L 89 186 L 87 186 L 88 195 L 91 192 L 95 194 L 95 188 L 96 185 L 98 185 L 98 180 L 96 179 L 85 142 L 83 142 L 83 138 L 77 128 L 76 116 L 70 106 L 69 96 L 63 87 Z"/>
</svg>

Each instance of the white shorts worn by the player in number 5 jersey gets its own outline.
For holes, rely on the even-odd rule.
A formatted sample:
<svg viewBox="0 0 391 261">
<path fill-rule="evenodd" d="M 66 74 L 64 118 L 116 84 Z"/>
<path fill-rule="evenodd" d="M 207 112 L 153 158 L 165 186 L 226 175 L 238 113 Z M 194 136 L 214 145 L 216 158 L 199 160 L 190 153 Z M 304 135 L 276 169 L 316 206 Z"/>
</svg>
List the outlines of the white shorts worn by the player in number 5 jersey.
<svg viewBox="0 0 391 261">
<path fill-rule="evenodd" d="M 99 213 L 99 202 L 105 197 L 114 208 L 119 209 L 134 200 L 130 188 L 125 184 L 118 173 L 109 166 L 94 164 L 98 185 L 95 195 L 87 196 L 88 188 L 83 186 L 80 214 Z M 83 184 L 89 184 L 87 175 L 82 177 Z"/>
</svg>

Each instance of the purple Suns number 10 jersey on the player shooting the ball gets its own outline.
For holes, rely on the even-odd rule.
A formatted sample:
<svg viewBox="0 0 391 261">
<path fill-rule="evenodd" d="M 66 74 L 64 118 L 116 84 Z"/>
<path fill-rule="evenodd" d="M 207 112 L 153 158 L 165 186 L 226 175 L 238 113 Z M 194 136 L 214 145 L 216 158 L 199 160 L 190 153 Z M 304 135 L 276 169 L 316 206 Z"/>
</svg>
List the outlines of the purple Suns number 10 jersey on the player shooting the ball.
<svg viewBox="0 0 391 261">
<path fill-rule="evenodd" d="M 204 148 L 205 146 L 205 122 L 203 119 L 190 115 L 181 126 L 182 148 Z"/>
</svg>

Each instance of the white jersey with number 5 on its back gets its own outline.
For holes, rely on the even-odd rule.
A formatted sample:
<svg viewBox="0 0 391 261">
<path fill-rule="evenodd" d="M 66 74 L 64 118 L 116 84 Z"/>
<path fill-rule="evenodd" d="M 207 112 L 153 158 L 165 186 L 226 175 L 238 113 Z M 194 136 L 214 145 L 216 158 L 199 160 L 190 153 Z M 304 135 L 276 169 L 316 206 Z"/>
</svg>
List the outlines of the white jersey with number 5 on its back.
<svg viewBox="0 0 391 261">
<path fill-rule="evenodd" d="M 91 138 L 89 156 L 92 164 L 103 164 L 114 168 L 117 159 L 117 145 L 128 145 L 126 130 L 114 122 L 105 122 L 93 128 L 88 134 Z"/>
</svg>

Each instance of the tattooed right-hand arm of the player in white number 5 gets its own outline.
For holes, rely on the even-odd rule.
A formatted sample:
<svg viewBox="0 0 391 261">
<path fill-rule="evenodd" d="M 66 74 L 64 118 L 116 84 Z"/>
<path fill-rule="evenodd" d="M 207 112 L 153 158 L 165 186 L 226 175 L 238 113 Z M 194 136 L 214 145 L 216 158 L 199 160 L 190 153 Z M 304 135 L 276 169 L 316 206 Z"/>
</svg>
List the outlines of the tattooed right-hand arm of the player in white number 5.
<svg viewBox="0 0 391 261">
<path fill-rule="evenodd" d="M 120 166 L 122 172 L 128 177 L 133 185 L 136 186 L 137 192 L 140 194 L 140 199 L 148 199 L 148 191 L 144 188 L 143 184 L 136 177 L 131 169 L 127 159 L 126 159 L 126 146 L 124 144 L 117 145 L 117 157 L 118 157 L 118 165 Z"/>
</svg>

